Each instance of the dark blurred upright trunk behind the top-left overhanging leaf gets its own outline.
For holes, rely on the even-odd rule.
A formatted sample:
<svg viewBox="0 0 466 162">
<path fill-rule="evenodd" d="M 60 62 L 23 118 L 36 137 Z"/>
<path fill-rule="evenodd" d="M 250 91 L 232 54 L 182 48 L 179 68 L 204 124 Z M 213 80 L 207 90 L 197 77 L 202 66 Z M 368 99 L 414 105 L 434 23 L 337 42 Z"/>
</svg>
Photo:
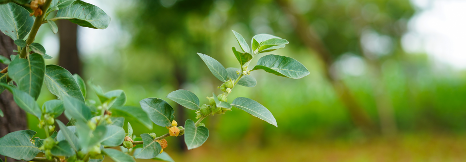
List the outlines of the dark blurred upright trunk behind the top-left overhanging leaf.
<svg viewBox="0 0 466 162">
<path fill-rule="evenodd" d="M 67 69 L 71 74 L 83 77 L 81 60 L 78 55 L 78 25 L 68 20 L 58 20 L 58 32 L 60 37 L 58 65 Z M 64 114 L 61 114 L 58 120 L 63 123 L 69 121 Z"/>
</svg>

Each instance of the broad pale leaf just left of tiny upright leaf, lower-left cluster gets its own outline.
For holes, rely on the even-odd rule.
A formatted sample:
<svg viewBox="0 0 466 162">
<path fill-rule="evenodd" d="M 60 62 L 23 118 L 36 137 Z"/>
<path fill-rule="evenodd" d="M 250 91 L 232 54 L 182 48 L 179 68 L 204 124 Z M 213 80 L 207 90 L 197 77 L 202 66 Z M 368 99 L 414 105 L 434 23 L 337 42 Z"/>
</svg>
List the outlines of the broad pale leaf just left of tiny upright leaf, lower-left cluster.
<svg viewBox="0 0 466 162">
<path fill-rule="evenodd" d="M 102 145 L 105 146 L 120 146 L 125 139 L 125 130 L 118 126 L 105 126 L 107 128 L 107 132 L 103 136 L 101 140 Z"/>
</svg>

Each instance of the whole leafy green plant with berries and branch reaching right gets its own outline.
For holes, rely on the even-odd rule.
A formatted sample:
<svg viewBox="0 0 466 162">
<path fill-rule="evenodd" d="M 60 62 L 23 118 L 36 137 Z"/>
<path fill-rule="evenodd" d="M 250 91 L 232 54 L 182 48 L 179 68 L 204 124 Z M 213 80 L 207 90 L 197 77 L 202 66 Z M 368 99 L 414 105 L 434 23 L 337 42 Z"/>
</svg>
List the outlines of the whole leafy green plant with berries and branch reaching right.
<svg viewBox="0 0 466 162">
<path fill-rule="evenodd" d="M 260 103 L 245 97 L 235 98 L 232 103 L 227 100 L 235 86 L 256 85 L 256 80 L 250 76 L 251 71 L 262 69 L 293 79 L 309 74 L 295 59 L 272 54 L 260 58 L 257 65 L 248 70 L 254 56 L 284 48 L 288 41 L 258 34 L 252 38 L 250 47 L 239 33 L 233 31 L 242 50 L 232 48 L 240 68 L 225 68 L 214 58 L 198 53 L 214 76 L 223 82 L 218 86 L 221 94 L 217 96 L 214 92 L 203 105 L 188 90 L 168 94 L 167 98 L 197 113 L 196 122 L 188 119 L 185 128 L 178 127 L 173 108 L 163 99 L 145 98 L 140 101 L 141 107 L 125 106 L 126 94 L 122 90 L 104 93 L 100 86 L 90 81 L 87 87 L 93 89 L 98 100 L 86 99 L 86 84 L 80 76 L 72 75 L 58 65 L 45 65 L 44 59 L 51 57 L 40 44 L 34 43 L 34 38 L 44 23 L 56 33 L 57 26 L 53 21 L 58 19 L 95 29 L 105 29 L 110 23 L 110 17 L 99 7 L 81 0 L 0 0 L 0 30 L 14 40 L 15 52 L 19 53 L 19 56 L 12 55 L 11 61 L 0 58 L 8 65 L 0 73 L 0 92 L 11 91 L 18 106 L 39 119 L 38 127 L 43 128 L 47 136 L 45 139 L 34 137 L 36 132 L 33 130 L 9 133 L 0 138 L 1 155 L 35 162 L 102 162 L 104 157 L 116 162 L 135 162 L 134 158 L 173 161 L 163 152 L 167 146 L 166 137 L 184 134 L 188 149 L 199 147 L 209 136 L 202 120 L 209 115 L 231 111 L 232 107 L 277 126 L 272 113 Z M 58 99 L 46 101 L 40 107 L 36 99 L 44 82 Z M 54 119 L 62 113 L 70 120 L 67 125 Z M 3 117 L 1 111 L 0 116 Z M 125 117 L 135 119 L 150 130 L 152 123 L 166 127 L 168 133 L 158 137 L 155 133 L 137 137 L 133 135 L 130 123 L 127 132 L 123 129 Z M 60 131 L 54 131 L 55 124 Z M 121 151 L 111 148 L 118 146 Z"/>
</svg>

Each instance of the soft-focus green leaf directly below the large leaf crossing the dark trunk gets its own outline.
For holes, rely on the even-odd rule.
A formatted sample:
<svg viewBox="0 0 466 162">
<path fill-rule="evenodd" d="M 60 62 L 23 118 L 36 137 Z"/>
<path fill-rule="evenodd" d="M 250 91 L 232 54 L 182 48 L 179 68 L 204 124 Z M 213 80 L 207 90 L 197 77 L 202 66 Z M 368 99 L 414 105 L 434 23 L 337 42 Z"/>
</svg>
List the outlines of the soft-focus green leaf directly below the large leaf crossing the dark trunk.
<svg viewBox="0 0 466 162">
<path fill-rule="evenodd" d="M 78 122 L 87 123 L 91 119 L 91 110 L 80 100 L 73 97 L 64 97 L 63 105 L 65 106 L 65 116 L 71 117 Z"/>
</svg>

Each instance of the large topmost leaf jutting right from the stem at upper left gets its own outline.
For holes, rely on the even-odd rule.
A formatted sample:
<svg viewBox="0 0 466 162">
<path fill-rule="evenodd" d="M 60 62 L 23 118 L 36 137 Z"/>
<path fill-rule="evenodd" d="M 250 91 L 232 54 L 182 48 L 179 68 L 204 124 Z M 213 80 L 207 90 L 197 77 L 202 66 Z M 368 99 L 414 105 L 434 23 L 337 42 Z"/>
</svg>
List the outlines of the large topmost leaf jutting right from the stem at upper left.
<svg viewBox="0 0 466 162">
<path fill-rule="evenodd" d="M 58 5 L 60 8 L 60 4 Z M 94 29 L 105 29 L 110 24 L 110 16 L 105 14 L 102 9 L 81 0 L 76 0 L 68 7 L 58 10 L 57 16 L 50 20 L 57 19 L 68 19 L 82 27 Z"/>
</svg>

